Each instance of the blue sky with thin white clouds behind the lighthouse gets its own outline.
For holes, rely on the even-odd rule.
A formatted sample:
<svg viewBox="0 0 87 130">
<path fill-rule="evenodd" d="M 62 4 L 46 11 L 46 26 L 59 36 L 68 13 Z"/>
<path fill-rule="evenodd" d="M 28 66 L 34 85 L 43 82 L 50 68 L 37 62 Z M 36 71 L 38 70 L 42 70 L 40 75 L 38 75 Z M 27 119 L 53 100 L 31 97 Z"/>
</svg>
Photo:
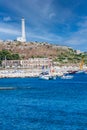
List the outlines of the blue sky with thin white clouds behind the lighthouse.
<svg viewBox="0 0 87 130">
<path fill-rule="evenodd" d="M 0 0 L 0 39 L 19 37 L 22 17 L 27 41 L 87 51 L 86 0 Z"/>
</svg>

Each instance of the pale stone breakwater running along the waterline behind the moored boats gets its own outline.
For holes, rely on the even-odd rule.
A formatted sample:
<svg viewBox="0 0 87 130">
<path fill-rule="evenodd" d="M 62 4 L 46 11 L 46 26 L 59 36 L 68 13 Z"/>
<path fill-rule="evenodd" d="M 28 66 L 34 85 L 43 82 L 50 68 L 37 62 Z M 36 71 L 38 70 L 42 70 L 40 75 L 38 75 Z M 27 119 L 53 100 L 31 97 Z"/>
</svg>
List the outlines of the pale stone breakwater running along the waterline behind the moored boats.
<svg viewBox="0 0 87 130">
<path fill-rule="evenodd" d="M 54 71 L 51 73 L 54 76 L 62 76 L 64 74 L 67 74 L 69 71 L 79 71 L 79 67 L 73 67 L 73 66 L 62 66 L 58 67 L 55 66 Z M 87 71 L 87 67 L 84 67 L 84 71 Z M 51 71 L 50 68 L 48 69 L 38 69 L 38 68 L 32 68 L 32 69 L 4 69 L 0 70 L 0 78 L 16 78 L 16 77 L 39 77 L 40 73 L 42 71 Z"/>
</svg>

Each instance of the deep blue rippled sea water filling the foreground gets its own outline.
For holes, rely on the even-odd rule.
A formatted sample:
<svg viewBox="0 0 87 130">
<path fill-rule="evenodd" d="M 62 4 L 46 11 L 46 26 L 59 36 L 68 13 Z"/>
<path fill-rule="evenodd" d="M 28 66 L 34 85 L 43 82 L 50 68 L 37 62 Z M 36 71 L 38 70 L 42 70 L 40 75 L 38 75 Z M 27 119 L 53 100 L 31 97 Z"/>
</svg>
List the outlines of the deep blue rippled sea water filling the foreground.
<svg viewBox="0 0 87 130">
<path fill-rule="evenodd" d="M 0 79 L 0 130 L 87 130 L 87 75 Z"/>
</svg>

